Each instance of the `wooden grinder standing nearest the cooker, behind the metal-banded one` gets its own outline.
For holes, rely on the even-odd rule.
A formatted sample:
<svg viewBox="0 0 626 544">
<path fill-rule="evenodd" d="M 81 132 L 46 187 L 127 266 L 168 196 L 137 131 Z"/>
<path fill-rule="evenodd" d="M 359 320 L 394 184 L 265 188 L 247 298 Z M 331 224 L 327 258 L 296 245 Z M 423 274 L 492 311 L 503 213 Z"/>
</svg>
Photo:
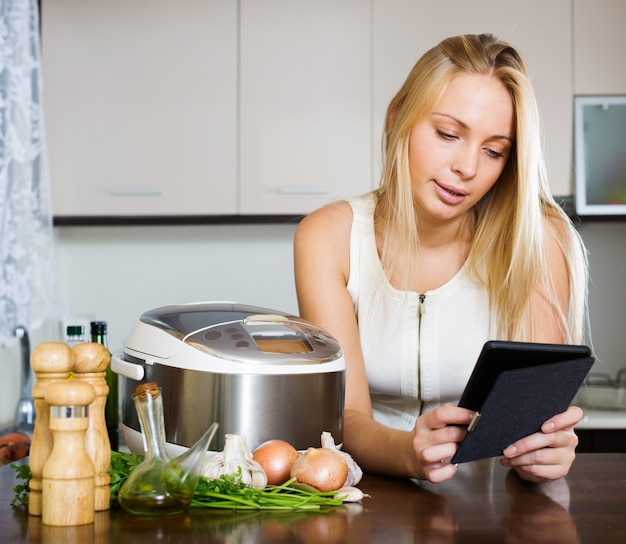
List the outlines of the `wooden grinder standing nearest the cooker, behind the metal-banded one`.
<svg viewBox="0 0 626 544">
<path fill-rule="evenodd" d="M 93 386 L 96 398 L 89 407 L 89 428 L 85 437 L 85 448 L 95 470 L 95 509 L 108 510 L 111 501 L 111 442 L 107 433 L 104 407 L 109 393 L 105 372 L 111 356 L 102 344 L 86 342 L 76 344 L 72 350 L 72 369 L 76 380 Z"/>
</svg>

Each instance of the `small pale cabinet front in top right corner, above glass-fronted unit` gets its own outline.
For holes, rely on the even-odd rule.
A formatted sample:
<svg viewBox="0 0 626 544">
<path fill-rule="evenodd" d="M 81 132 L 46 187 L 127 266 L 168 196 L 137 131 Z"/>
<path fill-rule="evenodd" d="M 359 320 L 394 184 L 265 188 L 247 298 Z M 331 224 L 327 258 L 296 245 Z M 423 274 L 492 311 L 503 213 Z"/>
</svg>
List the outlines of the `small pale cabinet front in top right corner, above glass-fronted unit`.
<svg viewBox="0 0 626 544">
<path fill-rule="evenodd" d="M 574 0 L 574 92 L 626 94 L 626 2 Z"/>
</svg>

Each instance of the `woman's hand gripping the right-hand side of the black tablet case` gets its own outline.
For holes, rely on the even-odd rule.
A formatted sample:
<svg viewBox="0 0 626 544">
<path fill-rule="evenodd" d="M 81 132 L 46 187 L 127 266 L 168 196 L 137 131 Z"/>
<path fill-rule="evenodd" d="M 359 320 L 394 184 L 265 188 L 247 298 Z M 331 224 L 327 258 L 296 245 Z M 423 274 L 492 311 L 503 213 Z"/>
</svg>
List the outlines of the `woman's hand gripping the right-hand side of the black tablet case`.
<svg viewBox="0 0 626 544">
<path fill-rule="evenodd" d="M 547 482 L 565 476 L 574 462 L 578 445 L 574 426 L 582 417 L 580 408 L 570 406 L 546 421 L 540 432 L 506 448 L 500 463 L 530 482 Z"/>
</svg>

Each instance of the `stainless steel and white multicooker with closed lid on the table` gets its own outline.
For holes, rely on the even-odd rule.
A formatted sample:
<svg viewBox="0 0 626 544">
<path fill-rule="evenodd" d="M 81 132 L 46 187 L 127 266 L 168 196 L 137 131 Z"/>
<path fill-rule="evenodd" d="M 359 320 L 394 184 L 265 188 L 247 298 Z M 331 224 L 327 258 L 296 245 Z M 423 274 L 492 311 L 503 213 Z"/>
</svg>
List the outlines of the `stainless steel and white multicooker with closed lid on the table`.
<svg viewBox="0 0 626 544">
<path fill-rule="evenodd" d="M 227 433 L 246 436 L 251 449 L 272 438 L 319 447 L 322 431 L 343 441 L 343 352 L 299 317 L 231 302 L 157 308 L 141 315 L 111 366 L 121 376 L 121 428 L 131 451 L 143 452 L 132 395 L 144 382 L 162 388 L 172 453 L 214 421 L 213 451 Z"/>
</svg>

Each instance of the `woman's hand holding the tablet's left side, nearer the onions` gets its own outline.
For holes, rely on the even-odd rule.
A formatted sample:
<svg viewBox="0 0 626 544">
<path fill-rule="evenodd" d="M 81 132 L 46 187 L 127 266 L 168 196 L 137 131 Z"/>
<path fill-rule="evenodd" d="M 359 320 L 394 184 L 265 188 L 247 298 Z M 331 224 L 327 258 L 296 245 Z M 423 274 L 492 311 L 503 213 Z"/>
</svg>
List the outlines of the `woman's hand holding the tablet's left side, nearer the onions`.
<svg viewBox="0 0 626 544">
<path fill-rule="evenodd" d="M 457 467 L 450 460 L 467 434 L 474 413 L 446 404 L 417 418 L 412 445 L 419 479 L 440 483 L 456 474 Z"/>
</svg>

